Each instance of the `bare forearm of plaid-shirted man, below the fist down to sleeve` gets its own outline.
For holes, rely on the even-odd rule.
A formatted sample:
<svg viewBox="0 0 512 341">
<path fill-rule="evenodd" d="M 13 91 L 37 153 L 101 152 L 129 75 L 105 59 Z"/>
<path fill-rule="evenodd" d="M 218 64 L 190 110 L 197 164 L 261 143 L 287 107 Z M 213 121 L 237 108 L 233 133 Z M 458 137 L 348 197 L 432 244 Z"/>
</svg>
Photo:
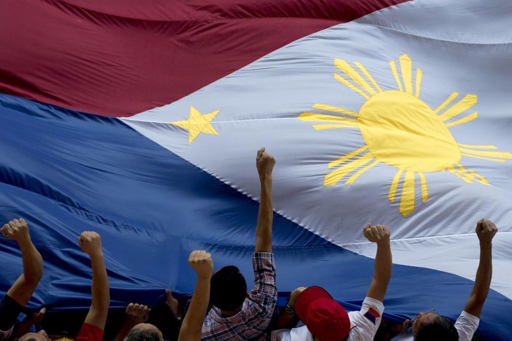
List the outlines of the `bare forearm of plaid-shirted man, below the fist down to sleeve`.
<svg viewBox="0 0 512 341">
<path fill-rule="evenodd" d="M 260 177 L 261 200 L 256 225 L 255 252 L 272 252 L 272 176 Z"/>
</svg>

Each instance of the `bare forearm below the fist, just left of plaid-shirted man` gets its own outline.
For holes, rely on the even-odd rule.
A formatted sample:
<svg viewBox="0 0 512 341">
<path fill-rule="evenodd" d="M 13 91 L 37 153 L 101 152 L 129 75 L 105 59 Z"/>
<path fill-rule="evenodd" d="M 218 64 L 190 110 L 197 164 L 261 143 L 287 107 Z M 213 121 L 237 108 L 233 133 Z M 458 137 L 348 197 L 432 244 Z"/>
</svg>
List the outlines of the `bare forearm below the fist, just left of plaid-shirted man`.
<svg viewBox="0 0 512 341">
<path fill-rule="evenodd" d="M 210 300 L 210 278 L 198 278 L 178 341 L 200 341 L 204 316 Z"/>
</svg>

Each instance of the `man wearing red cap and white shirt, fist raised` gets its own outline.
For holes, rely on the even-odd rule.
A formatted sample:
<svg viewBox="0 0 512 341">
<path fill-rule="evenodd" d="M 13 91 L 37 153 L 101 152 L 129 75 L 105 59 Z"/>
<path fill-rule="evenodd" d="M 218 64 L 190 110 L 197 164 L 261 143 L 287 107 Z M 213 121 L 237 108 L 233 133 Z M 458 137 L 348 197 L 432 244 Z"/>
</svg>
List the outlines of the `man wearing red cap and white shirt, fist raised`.
<svg viewBox="0 0 512 341">
<path fill-rule="evenodd" d="M 359 311 L 347 312 L 321 287 L 312 286 L 296 296 L 295 313 L 306 326 L 273 331 L 272 341 L 371 341 L 380 325 L 384 296 L 391 279 L 390 231 L 384 225 L 364 228 L 365 237 L 377 243 L 372 283 Z M 298 290 L 298 289 L 297 289 Z M 290 301 L 294 299 L 292 295 Z M 290 309 L 287 309 L 287 312 Z"/>
</svg>

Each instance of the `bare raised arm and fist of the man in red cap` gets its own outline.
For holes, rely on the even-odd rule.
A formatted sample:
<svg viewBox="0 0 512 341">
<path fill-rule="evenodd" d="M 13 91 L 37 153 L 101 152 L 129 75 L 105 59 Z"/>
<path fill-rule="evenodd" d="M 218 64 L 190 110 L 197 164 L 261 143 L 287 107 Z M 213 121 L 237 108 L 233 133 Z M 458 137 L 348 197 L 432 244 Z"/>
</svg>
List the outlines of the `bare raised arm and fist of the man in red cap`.
<svg viewBox="0 0 512 341">
<path fill-rule="evenodd" d="M 393 266 L 389 241 L 390 231 L 384 225 L 371 226 L 368 224 L 364 227 L 363 232 L 369 241 L 377 243 L 375 269 L 373 270 L 372 283 L 366 295 L 372 299 L 384 302 Z"/>
</svg>

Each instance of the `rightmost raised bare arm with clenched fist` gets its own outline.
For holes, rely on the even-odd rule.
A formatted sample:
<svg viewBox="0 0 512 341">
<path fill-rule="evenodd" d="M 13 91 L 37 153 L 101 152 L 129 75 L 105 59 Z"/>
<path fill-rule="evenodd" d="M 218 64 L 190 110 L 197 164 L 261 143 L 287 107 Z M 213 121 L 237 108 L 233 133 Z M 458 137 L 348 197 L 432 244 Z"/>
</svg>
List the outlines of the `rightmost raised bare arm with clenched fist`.
<svg viewBox="0 0 512 341">
<path fill-rule="evenodd" d="M 476 233 L 480 241 L 480 263 L 470 298 L 464 311 L 480 318 L 482 307 L 489 293 L 490 280 L 493 277 L 493 237 L 498 232 L 496 225 L 485 219 L 477 222 Z"/>
</svg>

